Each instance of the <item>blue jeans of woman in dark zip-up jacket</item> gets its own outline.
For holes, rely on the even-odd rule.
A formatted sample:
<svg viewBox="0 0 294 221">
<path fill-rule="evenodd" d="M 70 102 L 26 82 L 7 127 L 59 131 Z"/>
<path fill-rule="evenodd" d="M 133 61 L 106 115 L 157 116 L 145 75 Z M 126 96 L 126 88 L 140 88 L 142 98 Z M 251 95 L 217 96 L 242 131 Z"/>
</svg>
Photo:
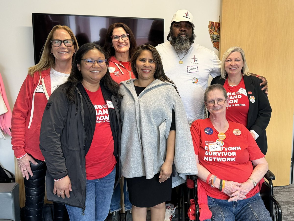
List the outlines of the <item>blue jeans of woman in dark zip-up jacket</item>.
<svg viewBox="0 0 294 221">
<path fill-rule="evenodd" d="M 82 209 L 66 205 L 71 221 L 104 221 L 108 215 L 115 180 L 115 167 L 106 177 L 87 179 L 85 215 Z"/>
</svg>

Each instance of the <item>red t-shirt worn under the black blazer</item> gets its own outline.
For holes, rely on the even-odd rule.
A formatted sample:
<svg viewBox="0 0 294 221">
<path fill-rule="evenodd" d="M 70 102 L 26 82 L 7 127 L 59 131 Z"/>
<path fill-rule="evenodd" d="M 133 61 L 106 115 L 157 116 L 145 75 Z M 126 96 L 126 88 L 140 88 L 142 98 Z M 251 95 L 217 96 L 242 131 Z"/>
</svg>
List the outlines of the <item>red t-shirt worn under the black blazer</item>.
<svg viewBox="0 0 294 221">
<path fill-rule="evenodd" d="M 223 87 L 227 91 L 228 98 L 230 98 L 230 103 L 226 110 L 227 120 L 242 123 L 247 127 L 249 100 L 243 77 L 240 83 L 233 87 L 228 84 L 228 80 L 225 80 Z"/>
</svg>

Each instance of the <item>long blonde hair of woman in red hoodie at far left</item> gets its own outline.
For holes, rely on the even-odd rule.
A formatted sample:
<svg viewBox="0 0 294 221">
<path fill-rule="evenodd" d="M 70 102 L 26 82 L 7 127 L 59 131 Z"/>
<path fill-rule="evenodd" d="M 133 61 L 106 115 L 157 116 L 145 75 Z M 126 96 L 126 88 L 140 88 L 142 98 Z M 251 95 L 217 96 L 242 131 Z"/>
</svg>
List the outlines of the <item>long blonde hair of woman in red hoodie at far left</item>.
<svg viewBox="0 0 294 221">
<path fill-rule="evenodd" d="M 29 75 L 33 76 L 36 71 L 39 71 L 39 74 L 41 75 L 41 71 L 46 70 L 49 67 L 55 66 L 55 58 L 53 55 L 50 54 L 51 52 L 50 40 L 52 39 L 54 32 L 58 29 L 64 29 L 69 33 L 69 35 L 71 36 L 71 39 L 74 39 L 74 49 L 76 51 L 78 50 L 78 41 L 76 40 L 76 36 L 72 32 L 72 30 L 66 25 L 55 25 L 50 31 L 50 33 L 48 34 L 46 42 L 42 48 L 42 55 L 41 55 L 39 63 L 32 67 L 29 67 L 29 71 L 28 71 Z M 74 59 L 72 59 L 71 63 L 73 62 L 74 62 Z"/>
</svg>

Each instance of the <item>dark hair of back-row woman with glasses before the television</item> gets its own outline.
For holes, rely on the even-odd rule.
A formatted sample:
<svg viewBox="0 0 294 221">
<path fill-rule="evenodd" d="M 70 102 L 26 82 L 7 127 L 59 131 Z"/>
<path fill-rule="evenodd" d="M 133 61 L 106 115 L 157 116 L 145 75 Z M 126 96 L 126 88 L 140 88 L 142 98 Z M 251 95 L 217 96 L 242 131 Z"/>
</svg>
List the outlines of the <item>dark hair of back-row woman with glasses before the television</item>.
<svg viewBox="0 0 294 221">
<path fill-rule="evenodd" d="M 108 30 L 106 33 L 106 40 L 104 44 L 104 49 L 106 53 L 108 54 L 108 57 L 115 55 L 115 50 L 114 50 L 114 47 L 112 46 L 112 39 L 110 36 L 112 36 L 113 29 L 116 29 L 116 28 L 123 28 L 126 31 L 126 33 L 129 34 L 130 57 L 131 57 L 135 51 L 135 48 L 137 47 L 136 39 L 132 30 L 126 24 L 123 24 L 121 22 L 113 23 L 108 27 Z"/>
</svg>

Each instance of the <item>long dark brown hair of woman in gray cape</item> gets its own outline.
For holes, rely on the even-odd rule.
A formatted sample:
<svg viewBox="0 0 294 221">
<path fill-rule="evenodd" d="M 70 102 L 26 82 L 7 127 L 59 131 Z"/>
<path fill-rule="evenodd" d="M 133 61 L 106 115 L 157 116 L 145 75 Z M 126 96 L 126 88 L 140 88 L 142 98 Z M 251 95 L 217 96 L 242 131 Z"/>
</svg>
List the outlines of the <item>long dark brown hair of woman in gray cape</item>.
<svg viewBox="0 0 294 221">
<path fill-rule="evenodd" d="M 155 47 L 153 47 L 150 44 L 139 45 L 136 48 L 135 52 L 133 53 L 131 60 L 130 60 L 130 63 L 131 63 L 131 67 L 132 67 L 134 76 L 138 79 L 138 72 L 136 70 L 136 60 L 139 57 L 139 55 L 145 50 L 148 50 L 152 53 L 152 56 L 153 56 L 153 59 L 154 59 L 155 65 L 156 65 L 154 75 L 153 75 L 154 78 L 161 80 L 161 81 L 164 81 L 164 82 L 172 83 L 174 85 L 174 87 L 176 88 L 176 91 L 178 92 L 178 89 L 177 89 L 175 83 L 173 83 L 173 81 L 171 79 L 169 79 L 166 76 L 166 74 L 164 73 L 161 57 L 160 57 L 158 51 L 156 50 Z"/>
</svg>

